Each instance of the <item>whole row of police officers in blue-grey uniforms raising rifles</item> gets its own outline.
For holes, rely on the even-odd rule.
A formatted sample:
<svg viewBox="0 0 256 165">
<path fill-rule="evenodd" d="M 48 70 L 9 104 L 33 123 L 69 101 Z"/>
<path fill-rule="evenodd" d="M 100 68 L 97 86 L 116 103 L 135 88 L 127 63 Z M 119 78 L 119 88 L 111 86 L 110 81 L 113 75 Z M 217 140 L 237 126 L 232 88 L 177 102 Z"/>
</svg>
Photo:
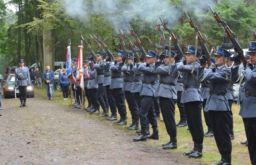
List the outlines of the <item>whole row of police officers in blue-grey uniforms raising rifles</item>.
<svg viewBox="0 0 256 165">
<path fill-rule="evenodd" d="M 242 67 L 241 57 L 217 47 L 214 59 L 208 66 L 204 54 L 196 51 L 193 45 L 188 46 L 186 57 L 180 57 L 174 51 L 161 53 L 158 58 L 153 51 L 148 51 L 146 59 L 140 56 L 138 61 L 132 54 L 119 52 L 116 59 L 97 52 L 84 61 L 85 96 L 88 100 L 88 112 L 103 113 L 100 117 L 118 125 L 127 124 L 125 99 L 132 116 L 132 124 L 126 128 L 141 131 L 133 141 L 146 141 L 147 138 L 158 139 L 158 124 L 154 100 L 159 98 L 166 131 L 170 136 L 164 149 L 177 148 L 177 129 L 175 123 L 175 104 L 180 110 L 180 122 L 177 125 L 188 125 L 194 147 L 184 155 L 202 157 L 204 136 L 214 136 L 221 160 L 215 165 L 231 165 L 232 143 L 234 139 L 232 101 L 234 90 L 232 82 L 244 79 L 244 98 L 240 115 L 243 118 L 251 163 L 256 164 L 256 42 L 249 42 L 250 59 Z M 134 61 L 133 61 L 134 60 Z M 136 62 L 137 61 L 137 62 Z M 234 63 L 234 65 L 232 65 Z M 72 59 L 73 77 L 76 75 L 76 59 Z M 242 73 L 242 74 L 241 74 Z M 242 75 L 242 76 L 240 76 Z M 76 82 L 77 83 L 77 82 Z M 74 81 L 75 84 L 75 81 Z M 74 85 L 73 84 L 73 85 Z M 179 85 L 183 90 L 178 90 Z M 82 90 L 77 85 L 74 89 L 75 106 L 81 107 Z M 78 91 L 80 90 L 80 91 Z M 110 108 L 111 115 L 108 115 Z M 182 110 L 184 108 L 184 110 Z M 208 126 L 204 134 L 202 113 Z M 149 133 L 149 125 L 153 133 Z"/>
</svg>

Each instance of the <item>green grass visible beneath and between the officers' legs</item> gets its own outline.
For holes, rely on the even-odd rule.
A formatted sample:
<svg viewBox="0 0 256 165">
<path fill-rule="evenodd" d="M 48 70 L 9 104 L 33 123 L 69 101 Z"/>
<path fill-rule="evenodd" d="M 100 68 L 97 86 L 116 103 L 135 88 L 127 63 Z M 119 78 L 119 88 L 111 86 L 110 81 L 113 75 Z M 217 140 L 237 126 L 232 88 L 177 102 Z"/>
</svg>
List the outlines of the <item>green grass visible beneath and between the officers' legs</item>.
<svg viewBox="0 0 256 165">
<path fill-rule="evenodd" d="M 46 88 L 43 87 L 42 89 L 35 89 L 35 97 L 39 99 L 45 99 L 47 97 L 46 94 Z M 71 106 L 71 101 L 70 100 L 63 100 L 62 97 L 62 92 L 60 90 L 54 90 L 53 94 L 53 100 L 46 100 L 46 102 L 50 104 L 55 104 L 56 106 L 59 107 L 68 107 Z M 88 106 L 88 102 L 86 101 L 85 106 Z M 128 125 L 132 123 L 130 111 L 128 109 L 128 105 L 126 103 L 126 109 L 127 109 L 127 122 Z M 102 109 L 100 108 L 101 113 Z M 232 112 L 233 112 L 233 119 L 234 119 L 234 135 L 235 139 L 232 140 L 232 164 L 251 164 L 250 163 L 250 157 L 248 153 L 248 148 L 245 145 L 241 145 L 240 142 L 244 141 L 246 139 L 245 131 L 244 131 L 244 124 L 242 121 L 242 117 L 238 115 L 238 112 L 240 110 L 240 106 L 236 105 L 233 103 L 232 105 Z M 81 110 L 82 111 L 82 110 Z M 118 126 L 114 124 L 113 122 L 110 122 L 106 120 L 105 118 L 99 118 L 97 114 L 92 114 L 90 115 L 88 112 L 81 112 L 81 113 L 86 113 L 86 116 L 90 116 L 90 118 L 93 118 L 94 120 L 100 121 L 104 124 L 112 124 L 114 128 L 118 128 L 123 130 L 124 132 L 127 132 L 129 134 L 134 134 L 134 137 L 137 136 L 135 131 L 133 130 L 128 130 L 125 127 L 126 126 Z M 100 114 L 101 114 L 100 113 Z M 162 115 L 162 114 L 161 114 Z M 161 116 L 162 118 L 162 116 Z M 120 116 L 118 115 L 118 119 L 120 119 Z M 178 107 L 176 106 L 175 109 L 175 121 L 176 123 L 179 122 L 180 120 L 180 114 Z M 204 114 L 202 111 L 202 120 L 203 120 L 203 126 L 204 126 L 204 132 L 207 131 L 207 127 L 204 121 Z M 158 128 L 159 128 L 159 140 L 148 140 L 144 141 L 142 143 L 145 143 L 147 145 L 159 145 L 159 147 L 162 145 L 162 143 L 166 143 L 170 141 L 170 138 L 166 132 L 166 128 L 164 126 L 163 122 L 160 122 L 158 120 Z M 152 132 L 152 129 L 150 128 L 150 132 Z M 194 146 L 192 137 L 190 135 L 190 132 L 187 130 L 187 127 L 177 127 L 177 139 L 178 139 L 178 148 L 174 150 L 167 150 L 167 152 L 170 153 L 180 153 L 183 154 L 184 151 L 190 151 L 192 147 Z M 180 160 L 183 159 L 188 159 L 187 157 L 180 157 L 178 158 Z M 202 159 L 190 159 L 190 161 L 198 161 L 198 164 L 211 164 L 211 163 L 216 163 L 220 160 L 220 153 L 218 151 L 218 148 L 215 143 L 214 137 L 208 137 L 204 138 L 204 148 L 203 148 L 203 157 Z"/>
</svg>

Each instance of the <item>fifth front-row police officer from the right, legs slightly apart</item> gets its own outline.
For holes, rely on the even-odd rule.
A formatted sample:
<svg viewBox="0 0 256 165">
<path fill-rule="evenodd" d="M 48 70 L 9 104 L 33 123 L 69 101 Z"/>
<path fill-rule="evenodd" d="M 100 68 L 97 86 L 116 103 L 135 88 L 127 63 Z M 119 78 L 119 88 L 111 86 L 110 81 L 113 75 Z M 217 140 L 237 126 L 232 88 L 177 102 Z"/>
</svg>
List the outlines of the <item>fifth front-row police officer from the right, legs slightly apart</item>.
<svg viewBox="0 0 256 165">
<path fill-rule="evenodd" d="M 156 121 L 156 116 L 154 112 L 154 99 L 156 97 L 154 86 L 158 75 L 155 73 L 155 57 L 156 53 L 149 50 L 148 55 L 146 55 L 147 61 L 145 63 L 139 64 L 138 71 L 143 73 L 142 86 L 140 88 L 140 95 L 142 96 L 142 101 L 140 105 L 140 126 L 141 134 L 133 141 L 146 141 L 147 138 L 159 139 L 158 137 L 158 126 Z M 152 125 L 153 134 L 146 137 L 146 128 L 148 121 Z"/>
</svg>

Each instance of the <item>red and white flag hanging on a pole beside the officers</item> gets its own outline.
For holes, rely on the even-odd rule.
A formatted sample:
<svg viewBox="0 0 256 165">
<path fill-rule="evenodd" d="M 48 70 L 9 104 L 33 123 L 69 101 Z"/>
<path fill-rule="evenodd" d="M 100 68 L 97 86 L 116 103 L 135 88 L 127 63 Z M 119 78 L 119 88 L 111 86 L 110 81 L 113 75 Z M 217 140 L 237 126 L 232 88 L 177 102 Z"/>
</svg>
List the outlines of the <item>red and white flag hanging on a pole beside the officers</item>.
<svg viewBox="0 0 256 165">
<path fill-rule="evenodd" d="M 79 86 L 84 90 L 84 75 L 83 75 L 83 46 L 78 46 L 79 53 L 76 64 L 76 80 L 79 80 Z"/>
</svg>

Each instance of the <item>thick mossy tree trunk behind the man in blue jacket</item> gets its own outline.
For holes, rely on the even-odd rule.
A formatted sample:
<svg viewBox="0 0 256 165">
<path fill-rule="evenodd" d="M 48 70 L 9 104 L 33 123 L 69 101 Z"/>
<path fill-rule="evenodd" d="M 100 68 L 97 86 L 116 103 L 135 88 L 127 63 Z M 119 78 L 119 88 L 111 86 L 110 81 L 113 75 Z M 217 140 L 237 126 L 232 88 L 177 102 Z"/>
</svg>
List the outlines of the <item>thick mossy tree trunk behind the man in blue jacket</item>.
<svg viewBox="0 0 256 165">
<path fill-rule="evenodd" d="M 52 70 L 55 61 L 55 31 L 55 29 L 43 29 L 44 67 L 49 65 Z"/>
</svg>

